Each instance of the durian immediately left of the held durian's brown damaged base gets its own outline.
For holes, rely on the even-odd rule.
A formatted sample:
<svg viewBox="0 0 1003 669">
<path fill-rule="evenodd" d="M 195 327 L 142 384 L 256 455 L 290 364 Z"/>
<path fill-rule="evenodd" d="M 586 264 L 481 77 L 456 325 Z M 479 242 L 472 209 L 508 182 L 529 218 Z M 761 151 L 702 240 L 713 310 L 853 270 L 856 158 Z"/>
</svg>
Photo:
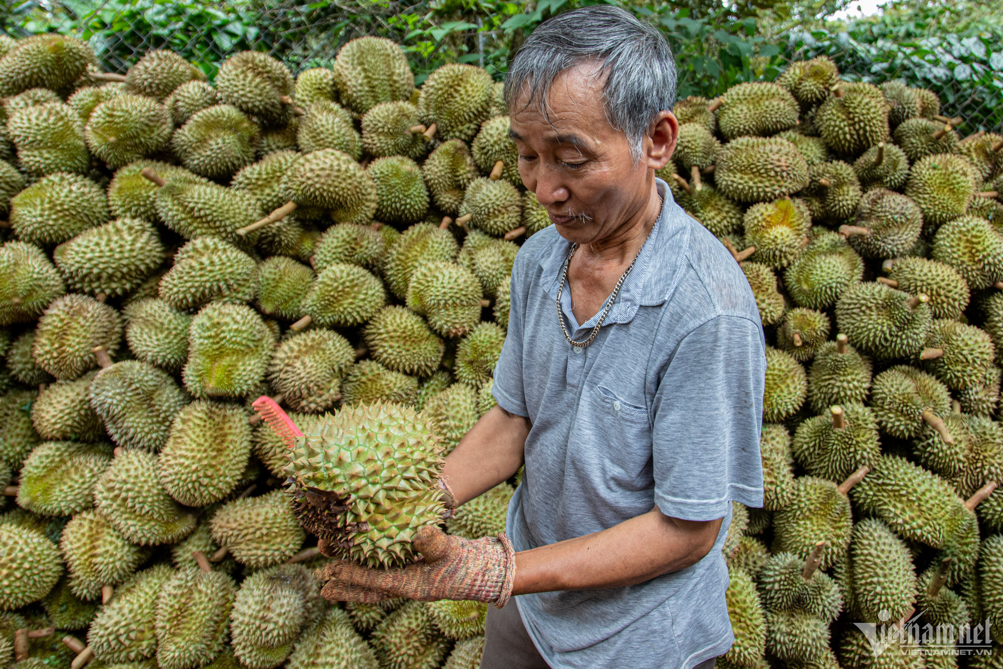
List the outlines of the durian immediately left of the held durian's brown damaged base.
<svg viewBox="0 0 1003 669">
<path fill-rule="evenodd" d="M 209 526 L 214 541 L 252 569 L 286 562 L 306 539 L 284 490 L 227 502 Z"/>
</svg>

